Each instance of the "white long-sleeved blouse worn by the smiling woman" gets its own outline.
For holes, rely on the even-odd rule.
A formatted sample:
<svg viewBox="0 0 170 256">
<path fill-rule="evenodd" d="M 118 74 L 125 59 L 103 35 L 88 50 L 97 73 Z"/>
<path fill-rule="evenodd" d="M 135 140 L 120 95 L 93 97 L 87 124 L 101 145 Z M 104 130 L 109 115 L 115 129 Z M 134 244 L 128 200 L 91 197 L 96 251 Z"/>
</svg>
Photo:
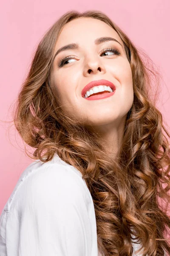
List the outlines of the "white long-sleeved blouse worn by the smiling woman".
<svg viewBox="0 0 170 256">
<path fill-rule="evenodd" d="M 91 193 L 57 154 L 24 170 L 0 215 L 0 256 L 48 255 L 99 256 Z"/>
</svg>

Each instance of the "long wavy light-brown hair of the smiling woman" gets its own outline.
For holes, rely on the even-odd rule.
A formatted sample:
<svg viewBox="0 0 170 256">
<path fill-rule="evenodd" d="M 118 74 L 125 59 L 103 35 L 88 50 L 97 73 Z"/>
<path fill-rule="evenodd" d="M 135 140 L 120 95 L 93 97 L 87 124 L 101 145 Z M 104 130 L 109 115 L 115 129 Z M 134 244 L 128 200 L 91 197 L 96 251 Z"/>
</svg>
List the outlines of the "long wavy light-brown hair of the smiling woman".
<svg viewBox="0 0 170 256">
<path fill-rule="evenodd" d="M 79 17 L 102 20 L 115 29 L 132 70 L 134 100 L 116 159 L 105 152 L 91 125 L 65 113 L 51 86 L 59 32 Z M 31 159 L 48 162 L 57 153 L 82 173 L 93 198 L 98 249 L 104 256 L 131 256 L 134 239 L 140 241 L 142 256 L 170 254 L 170 134 L 153 97 L 159 72 L 149 67 L 150 58 L 145 55 L 144 61 L 141 52 L 104 13 L 67 12 L 38 44 L 13 113 L 17 131 L 34 148 L 32 155 L 26 152 Z"/>
</svg>

